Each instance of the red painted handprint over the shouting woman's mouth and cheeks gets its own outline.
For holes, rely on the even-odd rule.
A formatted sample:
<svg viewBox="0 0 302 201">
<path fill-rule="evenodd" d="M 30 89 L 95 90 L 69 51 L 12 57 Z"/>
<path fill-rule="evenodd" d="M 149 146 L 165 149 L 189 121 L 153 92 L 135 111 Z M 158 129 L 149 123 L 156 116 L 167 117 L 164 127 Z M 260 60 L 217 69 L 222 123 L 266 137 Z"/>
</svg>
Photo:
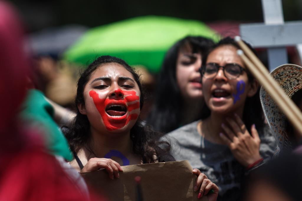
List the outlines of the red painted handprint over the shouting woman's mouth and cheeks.
<svg viewBox="0 0 302 201">
<path fill-rule="evenodd" d="M 140 97 L 136 95 L 135 91 L 117 89 L 114 93 L 123 94 L 124 98 L 119 98 L 120 96 L 117 95 L 116 99 L 100 99 L 94 90 L 89 92 L 108 130 L 120 129 L 126 126 L 129 121 L 136 120 L 138 114 L 133 110 L 140 108 Z"/>
</svg>

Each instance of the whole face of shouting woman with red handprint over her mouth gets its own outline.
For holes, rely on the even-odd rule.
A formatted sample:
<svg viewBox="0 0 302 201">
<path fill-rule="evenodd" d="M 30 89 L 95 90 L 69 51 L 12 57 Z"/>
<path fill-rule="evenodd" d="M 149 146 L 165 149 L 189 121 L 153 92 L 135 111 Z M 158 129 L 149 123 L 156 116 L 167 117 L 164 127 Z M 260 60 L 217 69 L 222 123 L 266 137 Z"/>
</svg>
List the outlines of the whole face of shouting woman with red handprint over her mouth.
<svg viewBox="0 0 302 201">
<path fill-rule="evenodd" d="M 130 131 L 140 114 L 140 89 L 133 75 L 120 64 L 108 63 L 97 68 L 83 95 L 84 104 L 78 107 L 94 133 Z"/>
</svg>

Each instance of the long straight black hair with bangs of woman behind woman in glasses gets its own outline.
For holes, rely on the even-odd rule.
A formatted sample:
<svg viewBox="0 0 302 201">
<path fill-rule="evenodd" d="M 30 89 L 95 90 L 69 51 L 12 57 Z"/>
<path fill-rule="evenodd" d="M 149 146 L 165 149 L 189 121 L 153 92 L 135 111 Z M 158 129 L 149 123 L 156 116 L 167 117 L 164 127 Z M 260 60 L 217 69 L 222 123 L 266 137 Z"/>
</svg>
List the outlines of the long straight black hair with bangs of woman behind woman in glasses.
<svg viewBox="0 0 302 201">
<path fill-rule="evenodd" d="M 192 53 L 200 52 L 203 57 L 212 45 L 214 45 L 214 42 L 211 39 L 201 36 L 187 36 L 176 42 L 168 50 L 159 73 L 154 108 L 146 119 L 155 130 L 170 132 L 177 129 L 182 121 L 180 113 L 184 103 L 176 79 L 176 63 L 179 50 L 189 46 Z M 202 58 L 202 61 L 205 60 Z M 200 117 L 195 120 L 198 119 Z"/>
</svg>

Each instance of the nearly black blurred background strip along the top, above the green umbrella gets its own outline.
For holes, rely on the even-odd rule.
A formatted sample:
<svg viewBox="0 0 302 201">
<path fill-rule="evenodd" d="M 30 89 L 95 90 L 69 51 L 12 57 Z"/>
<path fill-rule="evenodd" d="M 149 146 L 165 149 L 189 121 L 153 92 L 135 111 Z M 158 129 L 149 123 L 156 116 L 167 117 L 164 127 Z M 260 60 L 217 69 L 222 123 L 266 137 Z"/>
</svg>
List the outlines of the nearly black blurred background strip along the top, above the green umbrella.
<svg viewBox="0 0 302 201">
<path fill-rule="evenodd" d="M 263 22 L 261 0 L 11 0 L 28 32 L 46 27 L 81 24 L 96 27 L 143 15 L 214 21 Z M 283 0 L 284 20 L 302 20 L 302 1 Z"/>
</svg>

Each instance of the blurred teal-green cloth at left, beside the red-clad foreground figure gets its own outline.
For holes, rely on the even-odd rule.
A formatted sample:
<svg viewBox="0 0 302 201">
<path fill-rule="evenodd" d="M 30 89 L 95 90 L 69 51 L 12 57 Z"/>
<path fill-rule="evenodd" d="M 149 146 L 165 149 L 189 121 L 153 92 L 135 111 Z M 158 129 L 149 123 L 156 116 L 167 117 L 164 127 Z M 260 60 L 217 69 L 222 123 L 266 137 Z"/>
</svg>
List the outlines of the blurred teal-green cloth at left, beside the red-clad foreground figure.
<svg viewBox="0 0 302 201">
<path fill-rule="evenodd" d="M 28 90 L 27 98 L 22 105 L 21 118 L 30 127 L 41 129 L 49 152 L 72 160 L 72 154 L 66 138 L 53 120 L 54 109 L 38 90 Z"/>
</svg>

